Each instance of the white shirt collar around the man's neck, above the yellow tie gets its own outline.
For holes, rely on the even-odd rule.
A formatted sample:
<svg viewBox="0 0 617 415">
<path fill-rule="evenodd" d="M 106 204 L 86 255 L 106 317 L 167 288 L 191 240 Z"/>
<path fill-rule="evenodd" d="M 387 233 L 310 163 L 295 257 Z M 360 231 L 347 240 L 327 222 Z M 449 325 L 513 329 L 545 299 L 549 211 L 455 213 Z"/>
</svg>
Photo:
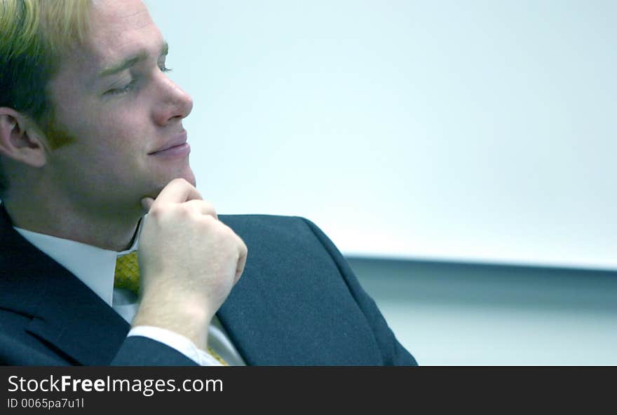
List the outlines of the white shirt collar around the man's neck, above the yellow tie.
<svg viewBox="0 0 617 415">
<path fill-rule="evenodd" d="M 83 244 L 70 239 L 62 239 L 51 235 L 40 234 L 14 227 L 30 244 L 39 248 L 50 258 L 69 270 L 74 276 L 93 290 L 104 302 L 111 306 L 114 297 L 114 274 L 116 258 L 137 251 L 139 236 L 142 229 L 140 220 L 137 225 L 137 235 L 133 245 L 125 251 L 116 252 L 96 246 Z"/>
</svg>

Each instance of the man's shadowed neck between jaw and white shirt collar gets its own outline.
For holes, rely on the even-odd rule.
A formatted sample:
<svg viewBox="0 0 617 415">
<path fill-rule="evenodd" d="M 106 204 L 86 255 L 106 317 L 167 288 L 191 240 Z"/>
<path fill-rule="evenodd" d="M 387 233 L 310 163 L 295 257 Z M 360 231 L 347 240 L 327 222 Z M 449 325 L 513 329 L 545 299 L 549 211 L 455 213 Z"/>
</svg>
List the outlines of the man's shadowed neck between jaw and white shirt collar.
<svg viewBox="0 0 617 415">
<path fill-rule="evenodd" d="M 2 201 L 13 225 L 32 232 L 109 251 L 130 248 L 135 230 L 143 212 L 140 209 L 113 214 L 107 212 L 79 212 L 63 209 L 67 206 L 50 206 L 41 202 L 22 202 L 11 199 Z"/>
</svg>

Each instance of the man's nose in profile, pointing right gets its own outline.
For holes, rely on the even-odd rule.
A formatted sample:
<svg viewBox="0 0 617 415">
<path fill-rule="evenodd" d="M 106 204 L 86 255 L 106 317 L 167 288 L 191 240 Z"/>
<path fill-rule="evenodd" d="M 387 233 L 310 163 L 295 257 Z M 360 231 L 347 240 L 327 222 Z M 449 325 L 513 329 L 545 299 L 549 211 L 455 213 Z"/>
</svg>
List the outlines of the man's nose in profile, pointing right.
<svg viewBox="0 0 617 415">
<path fill-rule="evenodd" d="M 193 109 L 193 99 L 165 74 L 160 73 L 159 75 L 156 89 L 158 90 L 157 94 L 160 95 L 154 110 L 154 121 L 158 125 L 165 126 L 170 122 L 187 117 Z"/>
</svg>

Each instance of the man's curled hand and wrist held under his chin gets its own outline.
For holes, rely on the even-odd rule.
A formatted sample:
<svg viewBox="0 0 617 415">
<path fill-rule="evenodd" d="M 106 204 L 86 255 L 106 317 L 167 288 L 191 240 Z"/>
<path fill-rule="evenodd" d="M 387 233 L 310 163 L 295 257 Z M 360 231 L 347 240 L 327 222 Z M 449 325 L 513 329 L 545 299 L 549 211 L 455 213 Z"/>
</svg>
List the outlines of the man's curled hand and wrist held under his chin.
<svg viewBox="0 0 617 415">
<path fill-rule="evenodd" d="M 205 349 L 208 325 L 242 274 L 247 248 L 182 178 L 149 209 L 140 234 L 140 307 L 133 326 L 178 332 Z"/>
</svg>

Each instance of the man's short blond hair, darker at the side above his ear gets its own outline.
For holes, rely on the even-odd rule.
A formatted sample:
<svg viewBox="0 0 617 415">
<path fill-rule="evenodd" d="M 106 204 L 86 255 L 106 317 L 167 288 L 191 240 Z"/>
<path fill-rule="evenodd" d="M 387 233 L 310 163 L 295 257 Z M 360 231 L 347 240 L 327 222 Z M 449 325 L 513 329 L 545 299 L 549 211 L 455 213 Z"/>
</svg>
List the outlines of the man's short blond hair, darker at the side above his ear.
<svg viewBox="0 0 617 415">
<path fill-rule="evenodd" d="M 0 0 L 0 107 L 53 120 L 46 87 L 88 29 L 90 0 Z M 53 144 L 53 143 L 52 143 Z M 8 183 L 1 174 L 0 195 Z"/>
</svg>

